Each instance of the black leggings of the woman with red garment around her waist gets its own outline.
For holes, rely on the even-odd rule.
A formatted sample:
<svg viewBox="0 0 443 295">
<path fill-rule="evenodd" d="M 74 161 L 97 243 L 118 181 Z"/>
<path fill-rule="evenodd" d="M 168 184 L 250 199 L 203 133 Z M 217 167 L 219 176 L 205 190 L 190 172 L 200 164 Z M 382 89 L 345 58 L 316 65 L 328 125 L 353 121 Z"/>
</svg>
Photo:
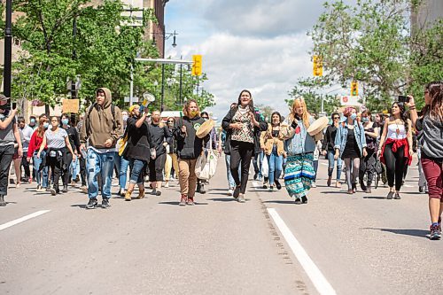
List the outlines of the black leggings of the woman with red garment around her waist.
<svg viewBox="0 0 443 295">
<path fill-rule="evenodd" d="M 385 157 L 388 185 L 392 188 L 395 183 L 395 190 L 399 191 L 403 183 L 403 174 L 407 159 L 405 158 L 404 147 L 400 146 L 396 152 L 393 152 L 392 144 L 386 144 L 383 156 Z"/>
</svg>

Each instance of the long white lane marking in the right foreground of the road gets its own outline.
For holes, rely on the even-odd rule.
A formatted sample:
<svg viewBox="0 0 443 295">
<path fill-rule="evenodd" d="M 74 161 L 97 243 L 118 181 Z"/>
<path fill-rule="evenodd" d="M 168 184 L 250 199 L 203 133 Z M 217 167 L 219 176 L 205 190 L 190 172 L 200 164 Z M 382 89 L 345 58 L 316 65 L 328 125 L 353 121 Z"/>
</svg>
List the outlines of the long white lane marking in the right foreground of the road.
<svg viewBox="0 0 443 295">
<path fill-rule="evenodd" d="M 332 288 L 328 280 L 326 280 L 326 278 L 323 276 L 320 269 L 317 268 L 314 261 L 311 260 L 309 255 L 307 255 L 305 249 L 299 244 L 297 238 L 295 238 L 291 233 L 291 229 L 289 229 L 286 223 L 284 223 L 283 219 L 276 212 L 276 209 L 268 208 L 268 213 L 272 216 L 274 222 L 276 222 L 276 226 L 278 229 L 280 229 L 280 232 L 286 239 L 286 242 L 288 242 L 292 252 L 294 253 L 295 257 L 297 257 L 297 260 L 299 260 L 301 266 L 305 269 L 307 276 L 309 276 L 312 283 L 314 283 L 317 291 L 322 295 L 336 294 L 334 288 Z"/>
</svg>

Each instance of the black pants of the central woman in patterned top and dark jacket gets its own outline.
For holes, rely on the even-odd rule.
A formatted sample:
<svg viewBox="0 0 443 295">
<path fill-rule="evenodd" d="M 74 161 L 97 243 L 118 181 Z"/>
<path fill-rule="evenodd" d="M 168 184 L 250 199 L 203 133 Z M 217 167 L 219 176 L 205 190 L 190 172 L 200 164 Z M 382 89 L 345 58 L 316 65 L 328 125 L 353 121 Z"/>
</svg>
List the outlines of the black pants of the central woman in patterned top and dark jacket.
<svg viewBox="0 0 443 295">
<path fill-rule="evenodd" d="M 244 194 L 248 184 L 249 167 L 253 158 L 253 144 L 245 142 L 230 142 L 230 173 L 236 185 L 240 185 L 240 193 Z M 242 178 L 238 175 L 238 167 L 242 164 Z"/>
</svg>

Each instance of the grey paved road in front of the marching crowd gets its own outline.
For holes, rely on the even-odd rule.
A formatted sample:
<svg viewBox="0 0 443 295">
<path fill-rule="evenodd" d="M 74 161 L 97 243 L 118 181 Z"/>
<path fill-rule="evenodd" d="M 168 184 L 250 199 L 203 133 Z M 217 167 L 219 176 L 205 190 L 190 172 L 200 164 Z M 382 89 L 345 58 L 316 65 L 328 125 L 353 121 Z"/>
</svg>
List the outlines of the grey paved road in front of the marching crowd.
<svg viewBox="0 0 443 295">
<path fill-rule="evenodd" d="M 309 204 L 296 206 L 253 181 L 248 202 L 235 202 L 220 163 L 193 207 L 178 206 L 177 183 L 161 197 L 113 198 L 106 210 L 85 210 L 74 189 L 51 197 L 34 184 L 12 188 L 0 208 L 0 293 L 441 293 L 443 244 L 425 237 L 415 166 L 402 199 L 386 200 L 387 188 L 349 196 L 325 187 L 322 160 Z"/>
</svg>

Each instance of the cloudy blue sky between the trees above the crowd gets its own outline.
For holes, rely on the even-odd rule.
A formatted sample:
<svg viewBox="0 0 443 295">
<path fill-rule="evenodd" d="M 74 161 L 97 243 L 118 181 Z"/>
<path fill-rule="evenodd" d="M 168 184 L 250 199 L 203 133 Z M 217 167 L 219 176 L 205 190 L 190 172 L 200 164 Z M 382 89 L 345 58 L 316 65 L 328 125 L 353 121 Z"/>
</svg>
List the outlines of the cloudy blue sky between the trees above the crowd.
<svg viewBox="0 0 443 295">
<path fill-rule="evenodd" d="M 254 103 L 286 115 L 297 79 L 312 74 L 307 36 L 323 12 L 323 0 L 170 0 L 165 24 L 178 46 L 167 55 L 203 55 L 204 87 L 215 96 L 210 109 L 222 119 L 242 89 Z M 170 40 L 169 40 L 170 41 Z"/>
</svg>

